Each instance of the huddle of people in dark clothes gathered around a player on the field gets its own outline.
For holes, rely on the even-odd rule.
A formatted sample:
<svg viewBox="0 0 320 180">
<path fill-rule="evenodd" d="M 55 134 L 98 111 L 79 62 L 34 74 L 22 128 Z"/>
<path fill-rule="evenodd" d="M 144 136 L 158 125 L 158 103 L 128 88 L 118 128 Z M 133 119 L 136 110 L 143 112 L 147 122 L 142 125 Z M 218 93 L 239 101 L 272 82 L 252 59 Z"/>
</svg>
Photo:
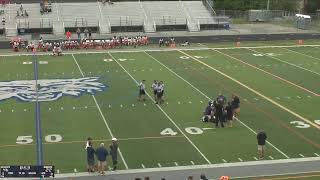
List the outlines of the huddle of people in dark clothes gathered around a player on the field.
<svg viewBox="0 0 320 180">
<path fill-rule="evenodd" d="M 240 114 L 240 99 L 236 95 L 232 95 L 231 101 L 227 102 L 227 98 L 220 94 L 216 100 L 209 101 L 208 106 L 204 110 L 204 115 L 201 118 L 203 122 L 213 122 L 216 127 L 225 127 L 224 123 L 227 123 L 228 127 L 232 127 L 232 123 L 235 117 Z"/>
</svg>

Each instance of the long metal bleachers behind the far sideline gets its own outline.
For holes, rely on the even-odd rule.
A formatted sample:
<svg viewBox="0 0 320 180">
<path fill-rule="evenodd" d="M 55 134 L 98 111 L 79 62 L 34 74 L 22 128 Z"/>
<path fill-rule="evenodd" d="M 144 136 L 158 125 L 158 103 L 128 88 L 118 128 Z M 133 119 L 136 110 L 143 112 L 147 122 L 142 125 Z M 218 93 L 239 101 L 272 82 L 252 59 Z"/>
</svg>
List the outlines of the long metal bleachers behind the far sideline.
<svg viewBox="0 0 320 180">
<path fill-rule="evenodd" d="M 202 1 L 52 3 L 52 11 L 45 14 L 40 13 L 39 3 L 23 4 L 28 17 L 16 17 L 20 4 L 1 8 L 5 10 L 6 19 L 10 19 L 6 24 L 7 35 L 10 31 L 14 35 L 15 29 L 52 29 L 52 33 L 63 35 L 66 30 L 74 31 L 78 27 L 96 28 L 100 34 L 114 31 L 200 31 L 203 25 L 219 23 L 219 18 Z"/>
</svg>

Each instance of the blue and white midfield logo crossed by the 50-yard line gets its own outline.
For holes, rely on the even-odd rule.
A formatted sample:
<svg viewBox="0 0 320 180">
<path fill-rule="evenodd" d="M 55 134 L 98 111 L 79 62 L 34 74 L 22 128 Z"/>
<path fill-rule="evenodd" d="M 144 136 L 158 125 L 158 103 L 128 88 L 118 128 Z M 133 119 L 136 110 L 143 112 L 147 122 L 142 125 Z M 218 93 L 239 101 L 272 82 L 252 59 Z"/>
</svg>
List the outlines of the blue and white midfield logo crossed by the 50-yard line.
<svg viewBox="0 0 320 180">
<path fill-rule="evenodd" d="M 55 101 L 63 95 L 94 95 L 106 89 L 107 86 L 99 82 L 99 77 L 8 81 L 0 82 L 0 100 L 16 98 L 25 102 Z"/>
</svg>

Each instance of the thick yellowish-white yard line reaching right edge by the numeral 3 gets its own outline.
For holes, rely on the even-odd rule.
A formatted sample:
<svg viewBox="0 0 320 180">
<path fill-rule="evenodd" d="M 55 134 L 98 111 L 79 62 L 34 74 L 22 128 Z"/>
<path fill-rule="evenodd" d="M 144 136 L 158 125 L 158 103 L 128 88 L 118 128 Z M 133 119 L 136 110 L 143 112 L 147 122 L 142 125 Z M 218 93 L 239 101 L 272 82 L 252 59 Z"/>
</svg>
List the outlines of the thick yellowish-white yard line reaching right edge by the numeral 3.
<svg viewBox="0 0 320 180">
<path fill-rule="evenodd" d="M 252 89 L 251 87 L 249 87 L 249 86 L 247 86 L 247 85 L 243 84 L 242 82 L 240 82 L 240 81 L 238 81 L 238 80 L 236 80 L 236 79 L 234 79 L 234 78 L 230 77 L 229 75 L 227 75 L 227 74 L 225 74 L 225 73 L 223 73 L 223 72 L 221 72 L 221 71 L 219 71 L 219 70 L 217 70 L 217 69 L 213 68 L 212 66 L 209 66 L 208 64 L 206 64 L 206 63 L 204 63 L 204 62 L 202 62 L 202 61 L 200 61 L 200 60 L 198 60 L 198 59 L 194 58 L 193 56 L 190 56 L 189 54 L 187 54 L 187 53 L 185 53 L 185 52 L 182 52 L 182 51 L 179 51 L 179 52 L 181 52 L 181 53 L 182 53 L 182 54 L 184 54 L 184 55 L 189 56 L 191 59 L 193 59 L 193 60 L 195 60 L 195 61 L 199 62 L 200 64 L 202 64 L 202 65 L 204 65 L 204 66 L 207 66 L 208 68 L 210 68 L 210 69 L 212 69 L 212 70 L 216 71 L 217 73 L 219 73 L 219 74 L 221 74 L 221 75 L 223 75 L 223 76 L 227 77 L 228 79 L 230 79 L 230 80 L 232 80 L 232 81 L 236 82 L 237 84 L 241 85 L 242 87 L 244 87 L 244 88 L 246 88 L 246 89 L 250 90 L 251 92 L 253 92 L 253 93 L 255 93 L 255 94 L 259 95 L 259 96 L 261 96 L 262 98 L 266 99 L 267 101 L 271 102 L 272 104 L 274 104 L 274 105 L 276 105 L 276 106 L 280 107 L 281 109 L 283 109 L 283 110 L 285 110 L 285 111 L 289 112 L 290 114 L 292 114 L 292 115 L 294 115 L 294 116 L 298 117 L 299 119 L 301 119 L 301 120 L 303 120 L 303 121 L 305 121 L 305 122 L 307 122 L 307 123 L 311 124 L 312 126 L 314 126 L 315 128 L 317 128 L 318 130 L 320 130 L 320 126 L 319 126 L 319 125 L 317 125 L 317 124 L 313 123 L 312 121 L 308 120 L 307 118 L 305 118 L 305 117 L 303 117 L 303 116 L 301 116 L 301 115 L 299 115 L 299 114 L 297 114 L 297 113 L 295 113 L 295 112 L 291 111 L 290 109 L 288 109 L 288 108 L 286 108 L 286 107 L 282 106 L 281 104 L 279 104 L 279 103 L 277 103 L 276 101 L 274 101 L 274 100 L 272 100 L 272 99 L 268 98 L 267 96 L 265 96 L 265 95 L 263 95 L 263 94 L 259 93 L 258 91 L 256 91 L 256 90 Z"/>
</svg>

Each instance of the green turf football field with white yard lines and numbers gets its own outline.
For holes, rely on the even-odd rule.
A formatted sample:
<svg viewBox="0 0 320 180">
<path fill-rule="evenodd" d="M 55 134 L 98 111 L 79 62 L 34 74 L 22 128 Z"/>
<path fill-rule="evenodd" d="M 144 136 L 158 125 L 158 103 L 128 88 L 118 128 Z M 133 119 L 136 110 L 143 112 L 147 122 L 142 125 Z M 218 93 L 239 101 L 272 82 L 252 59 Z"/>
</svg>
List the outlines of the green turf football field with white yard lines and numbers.
<svg viewBox="0 0 320 180">
<path fill-rule="evenodd" d="M 317 45 L 3 55 L 0 69 L 1 165 L 84 172 L 88 137 L 119 139 L 119 169 L 257 161 L 259 129 L 266 160 L 320 156 Z M 240 97 L 232 128 L 200 121 L 220 93 Z"/>
</svg>

